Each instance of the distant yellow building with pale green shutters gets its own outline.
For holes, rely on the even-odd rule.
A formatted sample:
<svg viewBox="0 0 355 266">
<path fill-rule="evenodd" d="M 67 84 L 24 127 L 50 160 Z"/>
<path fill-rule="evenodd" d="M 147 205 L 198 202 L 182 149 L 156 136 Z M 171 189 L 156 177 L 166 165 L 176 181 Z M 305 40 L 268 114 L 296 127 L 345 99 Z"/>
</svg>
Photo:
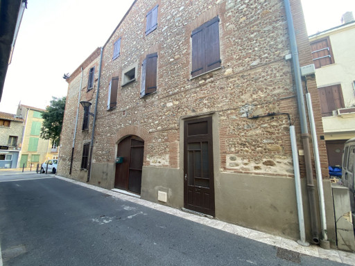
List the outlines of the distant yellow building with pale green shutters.
<svg viewBox="0 0 355 266">
<path fill-rule="evenodd" d="M 53 156 L 58 157 L 56 148 L 52 152 L 51 141 L 40 137 L 42 112 L 46 112 L 46 110 L 21 104 L 17 108 L 16 115 L 24 119 L 19 168 L 35 168 L 37 163 L 53 159 Z"/>
</svg>

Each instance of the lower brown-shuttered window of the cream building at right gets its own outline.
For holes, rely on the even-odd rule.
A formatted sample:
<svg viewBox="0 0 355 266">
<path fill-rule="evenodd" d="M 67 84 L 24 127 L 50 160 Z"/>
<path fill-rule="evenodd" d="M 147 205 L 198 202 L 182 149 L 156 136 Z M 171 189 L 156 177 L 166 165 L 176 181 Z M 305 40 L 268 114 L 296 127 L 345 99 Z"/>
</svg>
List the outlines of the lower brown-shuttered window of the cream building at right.
<svg viewBox="0 0 355 266">
<path fill-rule="evenodd" d="M 333 111 L 344 108 L 343 92 L 340 85 L 318 88 L 322 116 L 332 116 Z"/>
</svg>

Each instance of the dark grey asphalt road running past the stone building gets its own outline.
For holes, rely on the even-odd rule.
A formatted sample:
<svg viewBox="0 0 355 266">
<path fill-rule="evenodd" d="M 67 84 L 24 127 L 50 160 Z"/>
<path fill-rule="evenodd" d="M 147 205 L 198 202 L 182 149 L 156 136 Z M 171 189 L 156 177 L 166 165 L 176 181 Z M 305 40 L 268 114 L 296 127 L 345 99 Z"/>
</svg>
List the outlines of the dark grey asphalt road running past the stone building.
<svg viewBox="0 0 355 266">
<path fill-rule="evenodd" d="M 5 175 L 0 175 L 4 266 L 341 265 L 292 254 L 55 177 L 21 177 L 4 181 Z"/>
</svg>

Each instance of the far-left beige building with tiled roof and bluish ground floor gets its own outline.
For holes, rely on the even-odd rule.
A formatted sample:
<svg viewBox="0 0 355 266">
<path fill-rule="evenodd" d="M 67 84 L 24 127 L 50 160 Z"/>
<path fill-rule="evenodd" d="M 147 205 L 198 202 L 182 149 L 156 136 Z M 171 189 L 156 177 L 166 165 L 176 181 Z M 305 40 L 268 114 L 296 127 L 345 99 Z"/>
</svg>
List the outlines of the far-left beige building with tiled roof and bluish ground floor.
<svg viewBox="0 0 355 266">
<path fill-rule="evenodd" d="M 0 112 L 0 168 L 17 168 L 24 120 Z"/>
</svg>

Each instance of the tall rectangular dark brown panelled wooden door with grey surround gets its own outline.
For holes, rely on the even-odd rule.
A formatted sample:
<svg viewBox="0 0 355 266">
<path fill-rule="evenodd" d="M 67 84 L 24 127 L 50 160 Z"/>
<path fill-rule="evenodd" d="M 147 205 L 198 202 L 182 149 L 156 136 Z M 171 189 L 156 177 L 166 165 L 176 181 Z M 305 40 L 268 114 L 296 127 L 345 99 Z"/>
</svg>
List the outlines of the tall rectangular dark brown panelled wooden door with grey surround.
<svg viewBox="0 0 355 266">
<path fill-rule="evenodd" d="M 184 123 L 184 207 L 214 216 L 212 118 Z"/>
</svg>

